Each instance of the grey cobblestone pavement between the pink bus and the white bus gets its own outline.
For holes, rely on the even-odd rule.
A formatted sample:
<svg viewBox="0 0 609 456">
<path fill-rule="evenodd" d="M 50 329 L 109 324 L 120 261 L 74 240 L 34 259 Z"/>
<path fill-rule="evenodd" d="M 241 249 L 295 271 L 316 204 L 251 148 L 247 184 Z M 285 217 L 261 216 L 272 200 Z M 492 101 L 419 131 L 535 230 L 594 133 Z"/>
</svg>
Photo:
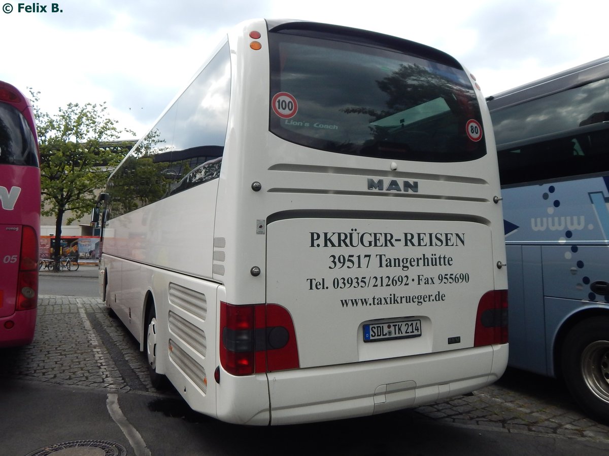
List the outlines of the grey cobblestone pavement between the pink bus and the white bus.
<svg viewBox="0 0 609 456">
<path fill-rule="evenodd" d="M 155 391 L 138 343 L 97 298 L 41 296 L 33 343 L 9 351 L 0 376 Z"/>
</svg>

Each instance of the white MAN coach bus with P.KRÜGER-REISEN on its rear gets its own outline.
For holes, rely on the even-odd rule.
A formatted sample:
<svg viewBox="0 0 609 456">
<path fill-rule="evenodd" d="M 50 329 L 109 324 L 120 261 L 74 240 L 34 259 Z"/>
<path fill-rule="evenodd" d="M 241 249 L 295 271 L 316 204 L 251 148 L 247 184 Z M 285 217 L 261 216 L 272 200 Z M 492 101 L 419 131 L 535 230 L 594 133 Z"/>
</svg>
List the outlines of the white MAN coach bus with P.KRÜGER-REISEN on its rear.
<svg viewBox="0 0 609 456">
<path fill-rule="evenodd" d="M 420 406 L 507 364 L 499 192 L 454 58 L 248 21 L 111 174 L 100 285 L 153 384 L 219 420 Z"/>
</svg>

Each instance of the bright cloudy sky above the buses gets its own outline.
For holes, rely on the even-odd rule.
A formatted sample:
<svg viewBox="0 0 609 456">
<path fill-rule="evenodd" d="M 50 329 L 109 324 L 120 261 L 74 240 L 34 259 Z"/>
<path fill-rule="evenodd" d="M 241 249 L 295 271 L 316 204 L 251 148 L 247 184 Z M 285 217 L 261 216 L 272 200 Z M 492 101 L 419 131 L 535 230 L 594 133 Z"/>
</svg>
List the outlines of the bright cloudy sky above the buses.
<svg viewBox="0 0 609 456">
<path fill-rule="evenodd" d="M 375 30 L 448 52 L 485 95 L 609 55 L 606 0 L 0 0 L 0 79 L 55 114 L 107 102 L 146 133 L 231 26 L 295 18 Z M 55 9 L 61 12 L 52 12 Z M 22 9 L 23 9 L 22 6 Z M 38 8 L 41 9 L 40 7 Z M 12 10 L 12 12 L 8 12 Z"/>
</svg>

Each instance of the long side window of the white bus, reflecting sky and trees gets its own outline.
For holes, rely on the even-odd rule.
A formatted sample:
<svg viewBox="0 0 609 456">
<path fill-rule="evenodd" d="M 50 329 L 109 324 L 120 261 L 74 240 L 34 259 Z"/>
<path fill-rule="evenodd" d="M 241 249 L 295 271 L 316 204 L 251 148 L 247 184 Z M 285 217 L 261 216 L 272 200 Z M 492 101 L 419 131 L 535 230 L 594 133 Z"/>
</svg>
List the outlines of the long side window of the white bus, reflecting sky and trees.
<svg viewBox="0 0 609 456">
<path fill-rule="evenodd" d="M 206 164 L 224 154 L 230 81 L 227 43 L 111 176 L 111 217 L 217 177 Z"/>
</svg>

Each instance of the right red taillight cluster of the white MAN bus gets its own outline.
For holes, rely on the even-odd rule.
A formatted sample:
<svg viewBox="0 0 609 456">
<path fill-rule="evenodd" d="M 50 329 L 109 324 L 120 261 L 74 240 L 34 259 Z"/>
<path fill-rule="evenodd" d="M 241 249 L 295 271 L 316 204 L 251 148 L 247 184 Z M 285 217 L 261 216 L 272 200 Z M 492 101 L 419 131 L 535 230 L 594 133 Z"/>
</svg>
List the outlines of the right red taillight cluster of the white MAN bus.
<svg viewBox="0 0 609 456">
<path fill-rule="evenodd" d="M 482 295 L 476 314 L 474 347 L 507 344 L 507 290 Z"/>
</svg>

